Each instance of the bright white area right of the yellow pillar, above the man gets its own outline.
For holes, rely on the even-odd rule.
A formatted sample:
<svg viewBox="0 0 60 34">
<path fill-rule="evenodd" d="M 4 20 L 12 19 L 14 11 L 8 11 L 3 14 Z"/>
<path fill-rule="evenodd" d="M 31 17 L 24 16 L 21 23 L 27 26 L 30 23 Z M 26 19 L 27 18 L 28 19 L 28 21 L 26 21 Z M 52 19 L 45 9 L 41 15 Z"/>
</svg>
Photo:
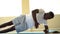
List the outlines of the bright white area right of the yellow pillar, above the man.
<svg viewBox="0 0 60 34">
<path fill-rule="evenodd" d="M 60 0 L 30 0 L 30 11 L 36 8 L 42 8 L 45 12 L 53 11 L 54 14 L 60 14 Z"/>
</svg>

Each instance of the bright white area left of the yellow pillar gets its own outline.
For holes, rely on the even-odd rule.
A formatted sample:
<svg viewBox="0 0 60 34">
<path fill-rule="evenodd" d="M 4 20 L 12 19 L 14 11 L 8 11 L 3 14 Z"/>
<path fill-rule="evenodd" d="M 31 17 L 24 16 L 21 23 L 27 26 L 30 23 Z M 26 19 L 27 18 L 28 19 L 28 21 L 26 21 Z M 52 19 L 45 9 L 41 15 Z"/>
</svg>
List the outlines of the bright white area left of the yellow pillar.
<svg viewBox="0 0 60 34">
<path fill-rule="evenodd" d="M 21 0 L 0 0 L 0 17 L 19 16 L 21 12 Z"/>
</svg>

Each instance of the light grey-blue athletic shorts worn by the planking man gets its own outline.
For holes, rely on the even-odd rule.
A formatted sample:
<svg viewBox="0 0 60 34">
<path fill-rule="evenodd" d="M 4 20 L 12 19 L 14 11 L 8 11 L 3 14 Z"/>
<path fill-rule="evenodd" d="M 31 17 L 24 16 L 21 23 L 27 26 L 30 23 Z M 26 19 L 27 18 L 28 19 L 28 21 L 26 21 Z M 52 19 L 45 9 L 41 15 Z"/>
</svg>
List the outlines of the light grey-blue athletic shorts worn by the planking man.
<svg viewBox="0 0 60 34">
<path fill-rule="evenodd" d="M 21 15 L 13 20 L 13 24 L 15 25 L 15 29 L 17 32 L 22 32 L 28 29 L 28 26 L 25 20 L 26 20 L 25 15 Z"/>
</svg>

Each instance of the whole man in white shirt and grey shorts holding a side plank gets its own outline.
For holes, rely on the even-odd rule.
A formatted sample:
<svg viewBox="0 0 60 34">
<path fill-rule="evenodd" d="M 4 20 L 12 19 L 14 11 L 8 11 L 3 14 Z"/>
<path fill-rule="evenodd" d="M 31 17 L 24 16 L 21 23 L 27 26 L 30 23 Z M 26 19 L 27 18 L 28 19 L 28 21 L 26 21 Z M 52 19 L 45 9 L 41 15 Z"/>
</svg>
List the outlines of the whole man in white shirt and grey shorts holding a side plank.
<svg viewBox="0 0 60 34">
<path fill-rule="evenodd" d="M 49 13 L 45 13 L 43 9 L 35 9 L 32 11 L 32 15 L 21 15 L 8 23 L 0 25 L 0 28 L 3 28 L 14 24 L 14 26 L 12 26 L 11 28 L 2 30 L 0 31 L 0 33 L 6 33 L 13 30 L 16 30 L 17 32 L 22 32 L 29 28 L 32 28 L 33 26 L 35 26 L 35 28 L 37 29 L 40 24 L 44 24 L 44 31 L 45 33 L 48 33 L 49 29 L 47 25 L 47 20 L 53 17 L 54 14 L 51 11 Z"/>
</svg>

